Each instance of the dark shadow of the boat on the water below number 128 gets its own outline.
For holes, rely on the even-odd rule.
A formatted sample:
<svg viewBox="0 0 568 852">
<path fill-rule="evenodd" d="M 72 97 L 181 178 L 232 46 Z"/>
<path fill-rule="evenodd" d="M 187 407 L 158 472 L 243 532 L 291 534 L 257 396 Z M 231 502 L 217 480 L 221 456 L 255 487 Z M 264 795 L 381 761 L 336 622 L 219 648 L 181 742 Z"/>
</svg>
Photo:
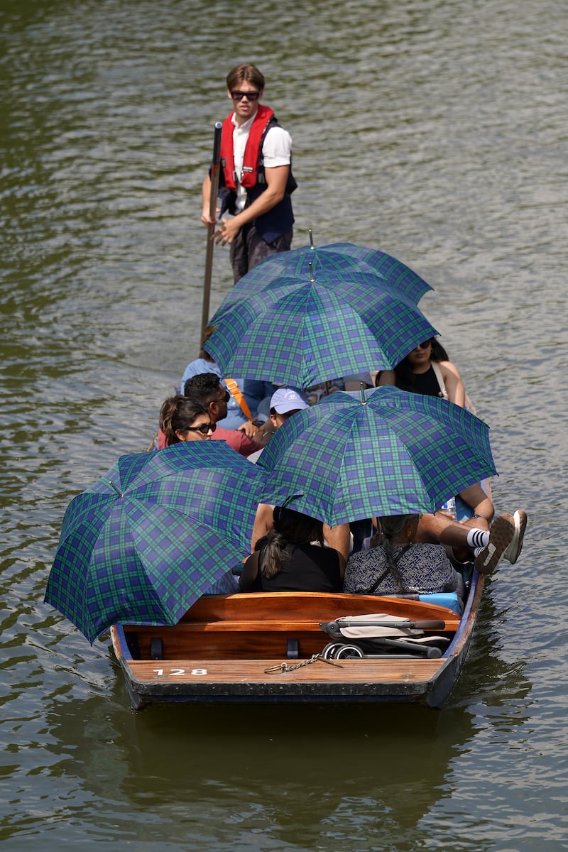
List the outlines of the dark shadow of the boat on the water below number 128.
<svg viewBox="0 0 568 852">
<path fill-rule="evenodd" d="M 72 699 L 48 712 L 55 738 L 74 744 L 72 759 L 64 757 L 57 773 L 97 803 L 85 807 L 85 819 L 91 807 L 108 812 L 111 799 L 123 838 L 207 838 L 217 844 L 209 848 L 223 849 L 232 848 L 230 836 L 238 848 L 267 849 L 258 845 L 261 835 L 273 838 L 269 848 L 319 849 L 332 838 L 356 844 L 360 836 L 365 849 L 383 849 L 370 843 L 387 830 L 396 832 L 400 849 L 404 843 L 410 849 L 422 818 L 451 797 L 452 764 L 471 751 L 484 723 L 468 705 L 476 699 L 507 705 L 530 691 L 519 668 L 495 656 L 494 617 L 489 602 L 468 674 L 440 711 L 153 705 L 134 712 L 113 660 L 111 694 Z M 524 721 L 522 713 L 513 720 Z"/>
</svg>

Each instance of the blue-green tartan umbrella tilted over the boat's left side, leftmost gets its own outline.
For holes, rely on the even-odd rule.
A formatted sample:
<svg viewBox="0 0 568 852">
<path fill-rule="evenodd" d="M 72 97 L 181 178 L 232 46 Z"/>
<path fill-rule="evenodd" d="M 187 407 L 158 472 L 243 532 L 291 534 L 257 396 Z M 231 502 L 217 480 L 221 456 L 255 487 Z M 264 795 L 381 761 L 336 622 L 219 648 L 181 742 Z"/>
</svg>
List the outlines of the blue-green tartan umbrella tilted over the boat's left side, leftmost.
<svg viewBox="0 0 568 852">
<path fill-rule="evenodd" d="M 45 602 L 91 643 L 176 624 L 250 554 L 264 479 L 221 440 L 122 456 L 67 507 Z"/>
</svg>

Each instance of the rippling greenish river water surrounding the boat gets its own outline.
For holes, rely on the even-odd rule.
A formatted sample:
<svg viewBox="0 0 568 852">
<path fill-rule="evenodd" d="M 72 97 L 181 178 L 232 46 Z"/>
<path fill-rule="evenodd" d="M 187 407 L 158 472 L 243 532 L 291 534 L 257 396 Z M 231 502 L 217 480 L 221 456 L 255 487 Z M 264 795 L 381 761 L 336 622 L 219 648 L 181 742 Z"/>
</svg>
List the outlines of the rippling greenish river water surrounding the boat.
<svg viewBox="0 0 568 852">
<path fill-rule="evenodd" d="M 560 0 L 3 0 L 0 840 L 7 849 L 568 849 Z M 529 514 L 441 711 L 148 708 L 43 604 L 69 500 L 197 354 L 200 183 L 238 61 L 294 138 L 295 242 L 422 309 Z M 231 284 L 215 250 L 212 310 Z"/>
</svg>

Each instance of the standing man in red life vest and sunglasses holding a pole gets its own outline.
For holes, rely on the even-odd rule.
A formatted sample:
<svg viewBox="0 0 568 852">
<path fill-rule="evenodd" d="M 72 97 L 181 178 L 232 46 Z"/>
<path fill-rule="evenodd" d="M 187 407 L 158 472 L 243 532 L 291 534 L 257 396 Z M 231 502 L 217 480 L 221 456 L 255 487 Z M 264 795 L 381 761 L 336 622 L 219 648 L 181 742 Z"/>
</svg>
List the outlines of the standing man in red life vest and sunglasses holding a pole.
<svg viewBox="0 0 568 852">
<path fill-rule="evenodd" d="M 264 77 L 254 65 L 238 65 L 227 75 L 227 96 L 234 112 L 221 130 L 219 197 L 221 227 L 212 239 L 230 245 L 235 282 L 258 262 L 290 249 L 294 215 L 290 193 L 292 140 L 273 110 L 260 103 Z M 204 180 L 201 221 L 217 225 L 209 213 L 211 180 Z"/>
</svg>

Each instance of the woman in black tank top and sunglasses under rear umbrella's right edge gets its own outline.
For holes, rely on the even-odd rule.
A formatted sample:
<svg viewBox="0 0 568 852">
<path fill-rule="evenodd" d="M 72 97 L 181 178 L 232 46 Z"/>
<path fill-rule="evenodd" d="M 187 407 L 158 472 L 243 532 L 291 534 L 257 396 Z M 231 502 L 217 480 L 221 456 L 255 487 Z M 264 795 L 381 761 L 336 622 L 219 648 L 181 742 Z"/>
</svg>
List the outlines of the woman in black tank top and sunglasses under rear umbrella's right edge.
<svg viewBox="0 0 568 852">
<path fill-rule="evenodd" d="M 414 394 L 443 396 L 456 406 L 463 408 L 466 405 L 462 377 L 435 337 L 415 346 L 394 370 L 381 371 L 376 377 L 376 384 L 394 384 Z"/>
</svg>

